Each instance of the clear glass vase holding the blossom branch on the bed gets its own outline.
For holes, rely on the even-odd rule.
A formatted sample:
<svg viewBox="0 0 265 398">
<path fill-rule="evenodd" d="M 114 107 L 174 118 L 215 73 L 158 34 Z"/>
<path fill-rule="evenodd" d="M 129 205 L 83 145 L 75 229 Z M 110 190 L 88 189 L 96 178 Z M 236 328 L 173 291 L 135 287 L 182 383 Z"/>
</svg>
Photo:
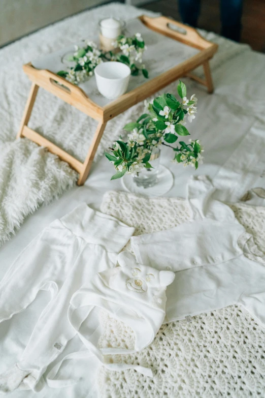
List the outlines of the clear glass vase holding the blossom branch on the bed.
<svg viewBox="0 0 265 398">
<path fill-rule="evenodd" d="M 157 175 L 158 175 L 158 168 L 160 163 L 160 149 L 154 148 L 152 150 L 152 154 L 149 160 L 149 163 L 153 168 L 147 169 L 143 168 L 141 171 L 134 176 L 134 182 L 138 187 L 142 188 L 150 188 L 156 185 L 158 182 Z"/>
</svg>

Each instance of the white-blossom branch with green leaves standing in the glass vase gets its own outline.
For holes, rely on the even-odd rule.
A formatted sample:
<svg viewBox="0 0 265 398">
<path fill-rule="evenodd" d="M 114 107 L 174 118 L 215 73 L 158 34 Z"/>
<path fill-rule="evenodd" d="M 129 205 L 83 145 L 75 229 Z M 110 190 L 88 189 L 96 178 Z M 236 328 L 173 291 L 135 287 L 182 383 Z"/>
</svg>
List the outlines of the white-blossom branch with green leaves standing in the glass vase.
<svg viewBox="0 0 265 398">
<path fill-rule="evenodd" d="M 197 99 L 193 94 L 186 97 L 186 86 L 179 81 L 177 87 L 180 101 L 173 94 L 163 94 L 146 102 L 146 113 L 135 122 L 128 123 L 124 130 L 128 132 L 127 142 L 121 138 L 109 148 L 111 153 L 105 152 L 106 158 L 113 163 L 116 170 L 111 179 L 122 177 L 124 174 L 136 175 L 143 167 L 151 168 L 149 163 L 151 152 L 160 145 L 170 146 L 174 151 L 173 162 L 182 163 L 184 167 L 191 165 L 197 169 L 203 163 L 204 151 L 199 140 L 189 140 L 188 143 L 179 141 L 179 137 L 190 135 L 186 129 L 184 119 L 191 123 L 197 112 Z"/>
</svg>

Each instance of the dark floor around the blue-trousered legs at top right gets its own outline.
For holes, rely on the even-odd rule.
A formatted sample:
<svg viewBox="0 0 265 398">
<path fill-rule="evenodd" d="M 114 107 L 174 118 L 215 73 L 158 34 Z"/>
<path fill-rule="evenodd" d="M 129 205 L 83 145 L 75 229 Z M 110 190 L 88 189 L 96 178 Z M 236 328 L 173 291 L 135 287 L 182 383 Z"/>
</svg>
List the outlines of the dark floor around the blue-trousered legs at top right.
<svg viewBox="0 0 265 398">
<path fill-rule="evenodd" d="M 158 0 L 145 4 L 143 8 L 180 21 L 177 0 Z M 244 1 L 242 24 L 241 42 L 249 44 L 253 50 L 265 52 L 265 0 Z M 201 0 L 198 27 L 220 33 L 218 0 Z"/>
</svg>

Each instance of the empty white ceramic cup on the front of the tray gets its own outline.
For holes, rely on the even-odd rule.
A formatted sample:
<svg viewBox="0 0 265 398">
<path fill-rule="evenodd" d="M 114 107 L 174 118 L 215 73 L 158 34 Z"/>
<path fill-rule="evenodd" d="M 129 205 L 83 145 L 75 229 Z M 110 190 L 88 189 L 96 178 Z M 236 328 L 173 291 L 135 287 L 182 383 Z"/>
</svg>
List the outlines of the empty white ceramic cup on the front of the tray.
<svg viewBox="0 0 265 398">
<path fill-rule="evenodd" d="M 114 100 L 127 90 L 130 78 L 130 68 L 121 62 L 104 62 L 94 69 L 98 91 Z"/>
</svg>

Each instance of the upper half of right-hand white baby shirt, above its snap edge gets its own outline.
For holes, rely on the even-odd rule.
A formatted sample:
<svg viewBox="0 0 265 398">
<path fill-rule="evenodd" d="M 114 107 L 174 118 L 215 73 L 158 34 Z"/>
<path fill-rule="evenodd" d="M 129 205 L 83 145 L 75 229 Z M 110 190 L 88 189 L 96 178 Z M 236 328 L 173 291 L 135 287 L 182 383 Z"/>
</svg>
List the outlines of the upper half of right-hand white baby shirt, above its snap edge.
<svg viewBox="0 0 265 398">
<path fill-rule="evenodd" d="M 132 236 L 137 261 L 177 272 L 218 264 L 242 253 L 237 240 L 245 229 L 233 210 L 212 198 L 214 190 L 207 177 L 190 178 L 187 201 L 192 218 L 168 230 Z"/>
</svg>

